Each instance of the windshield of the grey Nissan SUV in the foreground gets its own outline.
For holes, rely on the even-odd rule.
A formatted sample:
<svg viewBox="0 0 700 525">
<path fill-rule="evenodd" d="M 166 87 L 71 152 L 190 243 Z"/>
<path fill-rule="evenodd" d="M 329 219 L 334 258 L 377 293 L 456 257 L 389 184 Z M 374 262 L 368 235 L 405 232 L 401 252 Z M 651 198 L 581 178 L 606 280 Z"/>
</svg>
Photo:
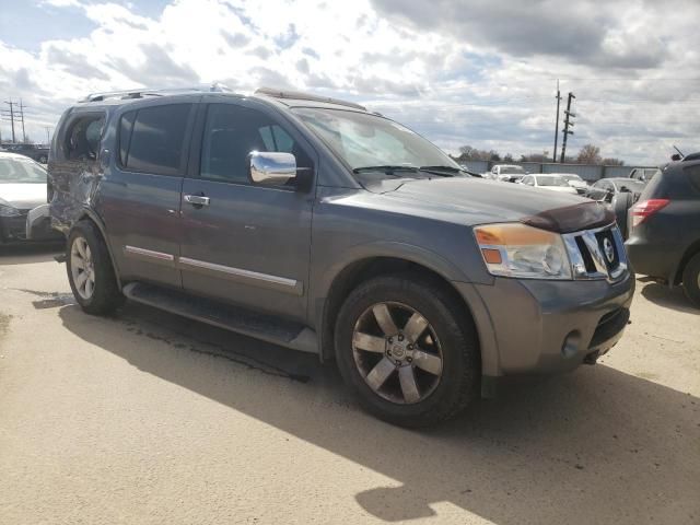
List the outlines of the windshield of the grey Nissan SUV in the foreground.
<svg viewBox="0 0 700 525">
<path fill-rule="evenodd" d="M 408 128 L 376 115 L 342 109 L 296 108 L 294 113 L 351 170 L 368 166 L 450 166 L 450 156 Z"/>
</svg>

